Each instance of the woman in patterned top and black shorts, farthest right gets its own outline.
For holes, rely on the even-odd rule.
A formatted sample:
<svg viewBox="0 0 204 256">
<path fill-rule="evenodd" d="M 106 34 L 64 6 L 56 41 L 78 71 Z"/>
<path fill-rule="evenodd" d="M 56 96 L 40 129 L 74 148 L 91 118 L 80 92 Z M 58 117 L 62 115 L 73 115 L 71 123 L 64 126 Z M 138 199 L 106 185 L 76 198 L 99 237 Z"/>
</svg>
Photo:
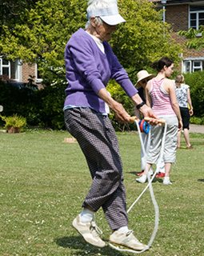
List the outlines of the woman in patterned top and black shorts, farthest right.
<svg viewBox="0 0 204 256">
<path fill-rule="evenodd" d="M 186 141 L 186 148 L 192 149 L 193 146 L 190 144 L 189 136 L 189 125 L 190 125 L 190 116 L 194 114 L 191 98 L 190 98 L 190 86 L 185 84 L 184 76 L 178 74 L 175 79 L 176 85 L 176 97 L 178 100 L 178 105 L 182 115 L 182 130 L 183 135 Z M 178 142 L 177 147 L 181 147 L 181 135 L 182 131 L 178 131 Z"/>
</svg>

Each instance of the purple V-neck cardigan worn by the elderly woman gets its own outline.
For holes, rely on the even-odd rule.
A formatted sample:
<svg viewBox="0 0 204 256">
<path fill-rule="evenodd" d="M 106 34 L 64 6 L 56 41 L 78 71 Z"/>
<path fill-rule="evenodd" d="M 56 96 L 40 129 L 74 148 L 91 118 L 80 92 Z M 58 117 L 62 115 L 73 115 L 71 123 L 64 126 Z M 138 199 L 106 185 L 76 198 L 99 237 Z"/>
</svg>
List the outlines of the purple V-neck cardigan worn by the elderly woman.
<svg viewBox="0 0 204 256">
<path fill-rule="evenodd" d="M 128 96 L 138 93 L 109 43 L 103 42 L 103 45 L 105 54 L 82 29 L 76 31 L 67 42 L 65 107 L 84 106 L 105 113 L 105 102 L 98 97 L 98 91 L 106 87 L 111 78 L 122 86 Z"/>
</svg>

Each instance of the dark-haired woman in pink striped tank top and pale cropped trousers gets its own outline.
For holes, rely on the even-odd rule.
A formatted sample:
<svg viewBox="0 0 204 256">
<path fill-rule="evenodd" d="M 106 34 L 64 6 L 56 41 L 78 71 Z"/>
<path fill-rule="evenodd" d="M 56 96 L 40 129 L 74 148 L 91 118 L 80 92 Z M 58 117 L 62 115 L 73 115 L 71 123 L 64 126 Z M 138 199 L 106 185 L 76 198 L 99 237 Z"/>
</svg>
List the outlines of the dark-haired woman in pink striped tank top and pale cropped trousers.
<svg viewBox="0 0 204 256">
<path fill-rule="evenodd" d="M 170 80 L 170 75 L 174 72 L 174 63 L 170 58 L 161 58 L 153 63 L 154 69 L 158 71 L 155 78 L 152 78 L 146 85 L 146 104 L 152 107 L 154 114 L 158 118 L 166 120 L 166 140 L 164 146 L 165 178 L 164 185 L 170 182 L 170 170 L 172 163 L 176 160 L 177 135 L 178 129 L 182 129 L 182 118 L 176 98 L 174 82 Z M 146 170 L 144 174 L 137 178 L 137 182 L 146 182 L 146 174 L 153 164 L 158 162 L 162 146 L 164 127 L 152 126 L 150 150 L 146 158 Z"/>
</svg>

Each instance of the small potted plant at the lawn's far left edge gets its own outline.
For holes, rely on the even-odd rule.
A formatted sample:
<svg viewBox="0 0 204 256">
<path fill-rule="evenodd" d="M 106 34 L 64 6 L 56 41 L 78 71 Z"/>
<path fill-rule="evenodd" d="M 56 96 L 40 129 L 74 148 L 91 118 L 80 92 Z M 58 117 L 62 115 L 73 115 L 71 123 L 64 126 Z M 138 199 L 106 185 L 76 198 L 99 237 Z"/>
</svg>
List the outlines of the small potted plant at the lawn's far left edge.
<svg viewBox="0 0 204 256">
<path fill-rule="evenodd" d="M 5 123 L 6 132 L 9 134 L 19 133 L 23 127 L 26 126 L 26 118 L 18 114 L 14 114 L 13 116 L 2 116 L 1 118 Z"/>
</svg>

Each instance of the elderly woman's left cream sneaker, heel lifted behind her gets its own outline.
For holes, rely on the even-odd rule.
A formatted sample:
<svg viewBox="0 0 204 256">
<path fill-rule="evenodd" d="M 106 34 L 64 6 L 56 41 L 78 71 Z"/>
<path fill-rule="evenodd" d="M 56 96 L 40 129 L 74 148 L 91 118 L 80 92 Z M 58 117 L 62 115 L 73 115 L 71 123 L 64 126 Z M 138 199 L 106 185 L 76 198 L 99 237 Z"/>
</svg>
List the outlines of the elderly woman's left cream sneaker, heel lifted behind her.
<svg viewBox="0 0 204 256">
<path fill-rule="evenodd" d="M 99 234 L 102 234 L 102 230 L 96 226 L 94 221 L 87 223 L 81 222 L 80 216 L 78 215 L 76 218 L 74 218 L 72 225 L 76 230 L 78 230 L 79 234 L 82 234 L 82 237 L 86 240 L 86 242 L 89 242 L 93 246 L 106 246 L 106 243 L 99 237 Z"/>
</svg>

